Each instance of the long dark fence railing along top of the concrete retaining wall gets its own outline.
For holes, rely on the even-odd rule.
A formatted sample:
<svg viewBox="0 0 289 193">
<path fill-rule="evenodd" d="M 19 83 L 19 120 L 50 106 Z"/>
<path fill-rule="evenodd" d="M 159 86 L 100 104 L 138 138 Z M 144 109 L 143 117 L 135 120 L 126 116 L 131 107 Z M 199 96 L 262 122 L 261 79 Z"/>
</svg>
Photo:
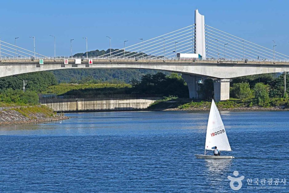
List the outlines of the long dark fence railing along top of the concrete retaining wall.
<svg viewBox="0 0 289 193">
<path fill-rule="evenodd" d="M 97 94 L 97 95 L 56 95 L 38 94 L 39 99 L 104 99 L 104 98 L 144 98 L 163 97 L 163 94 Z"/>
</svg>

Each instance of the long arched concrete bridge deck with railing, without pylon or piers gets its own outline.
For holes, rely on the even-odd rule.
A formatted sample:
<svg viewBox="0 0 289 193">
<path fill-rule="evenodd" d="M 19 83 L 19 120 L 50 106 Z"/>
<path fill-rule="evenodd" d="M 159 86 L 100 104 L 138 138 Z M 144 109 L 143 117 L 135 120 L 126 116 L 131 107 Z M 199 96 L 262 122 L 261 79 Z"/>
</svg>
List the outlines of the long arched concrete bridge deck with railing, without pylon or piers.
<svg viewBox="0 0 289 193">
<path fill-rule="evenodd" d="M 39 60 L 36 59 L 2 59 L 0 62 L 0 77 L 69 68 L 151 69 L 210 78 L 234 78 L 252 74 L 289 71 L 289 62 L 248 61 L 244 63 L 243 61 L 222 60 L 93 59 L 93 64 L 88 64 L 87 59 L 82 59 L 81 64 L 75 64 L 75 59 L 69 59 L 69 63 L 64 65 L 64 59 L 44 59 L 44 64 L 39 65 Z"/>
</svg>

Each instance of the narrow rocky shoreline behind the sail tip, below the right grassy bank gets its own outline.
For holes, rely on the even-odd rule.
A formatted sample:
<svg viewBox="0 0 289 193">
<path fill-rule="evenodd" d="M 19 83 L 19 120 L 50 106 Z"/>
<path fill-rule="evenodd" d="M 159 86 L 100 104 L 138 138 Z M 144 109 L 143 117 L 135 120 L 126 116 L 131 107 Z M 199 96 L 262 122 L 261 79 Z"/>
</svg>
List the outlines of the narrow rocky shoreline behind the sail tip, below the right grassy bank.
<svg viewBox="0 0 289 193">
<path fill-rule="evenodd" d="M 289 111 L 289 108 L 284 107 L 238 107 L 238 108 L 219 108 L 220 111 Z M 171 109 L 159 109 L 157 111 L 210 111 L 210 108 L 171 108 Z"/>
</svg>

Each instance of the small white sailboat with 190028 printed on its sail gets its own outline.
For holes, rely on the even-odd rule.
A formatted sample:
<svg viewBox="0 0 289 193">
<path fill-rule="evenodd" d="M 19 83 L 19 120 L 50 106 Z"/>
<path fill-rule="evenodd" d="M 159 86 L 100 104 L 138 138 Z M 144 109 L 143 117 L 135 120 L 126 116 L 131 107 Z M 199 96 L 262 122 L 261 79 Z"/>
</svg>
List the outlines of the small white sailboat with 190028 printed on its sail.
<svg viewBox="0 0 289 193">
<path fill-rule="evenodd" d="M 196 158 L 209 158 L 209 159 L 232 159 L 234 156 L 215 156 L 215 155 L 206 155 L 206 150 L 213 150 L 212 147 L 217 146 L 217 149 L 220 151 L 232 151 L 226 130 L 221 119 L 218 108 L 212 100 L 207 135 L 206 135 L 206 144 L 205 144 L 205 153 L 204 155 L 196 155 Z"/>
</svg>

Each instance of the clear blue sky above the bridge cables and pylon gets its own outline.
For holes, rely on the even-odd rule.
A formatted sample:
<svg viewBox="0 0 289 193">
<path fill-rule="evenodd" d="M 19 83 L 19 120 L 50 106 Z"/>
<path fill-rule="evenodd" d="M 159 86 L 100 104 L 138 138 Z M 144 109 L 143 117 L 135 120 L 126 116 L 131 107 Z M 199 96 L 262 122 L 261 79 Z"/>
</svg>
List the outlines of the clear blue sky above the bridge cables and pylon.
<svg viewBox="0 0 289 193">
<path fill-rule="evenodd" d="M 286 0 L 184 0 L 184 1 L 13 1 L 0 2 L 1 40 L 28 50 L 53 56 L 88 50 L 122 48 L 194 23 L 194 10 L 205 15 L 205 23 L 261 46 L 289 54 L 289 1 Z"/>
</svg>

